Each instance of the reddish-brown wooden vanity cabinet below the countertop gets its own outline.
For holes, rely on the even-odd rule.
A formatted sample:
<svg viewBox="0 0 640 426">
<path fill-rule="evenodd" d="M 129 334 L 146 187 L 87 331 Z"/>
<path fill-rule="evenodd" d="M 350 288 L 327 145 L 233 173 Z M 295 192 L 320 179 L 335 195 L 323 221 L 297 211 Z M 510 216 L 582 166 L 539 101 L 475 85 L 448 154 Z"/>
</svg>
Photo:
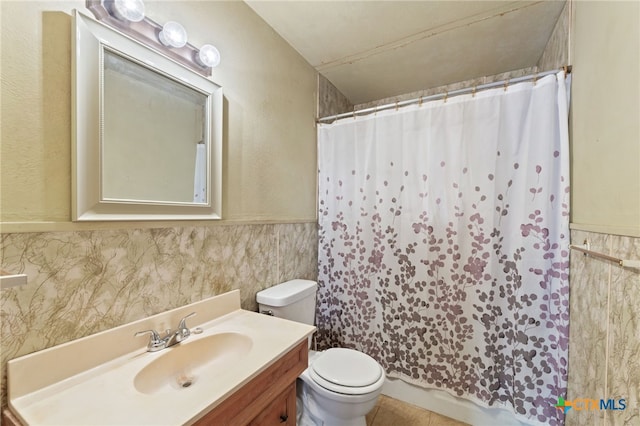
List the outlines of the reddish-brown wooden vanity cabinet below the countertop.
<svg viewBox="0 0 640 426">
<path fill-rule="evenodd" d="M 305 339 L 195 425 L 295 425 L 296 379 L 307 368 L 308 356 Z"/>
</svg>

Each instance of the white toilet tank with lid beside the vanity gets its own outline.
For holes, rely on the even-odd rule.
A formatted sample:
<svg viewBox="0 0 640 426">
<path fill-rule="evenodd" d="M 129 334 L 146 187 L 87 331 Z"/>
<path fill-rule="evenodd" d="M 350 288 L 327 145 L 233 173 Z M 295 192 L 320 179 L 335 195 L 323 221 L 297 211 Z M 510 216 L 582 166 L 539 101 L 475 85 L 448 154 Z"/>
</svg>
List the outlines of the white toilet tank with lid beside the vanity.
<svg viewBox="0 0 640 426">
<path fill-rule="evenodd" d="M 313 325 L 317 289 L 315 281 L 291 280 L 259 291 L 256 301 L 262 313 Z"/>
</svg>

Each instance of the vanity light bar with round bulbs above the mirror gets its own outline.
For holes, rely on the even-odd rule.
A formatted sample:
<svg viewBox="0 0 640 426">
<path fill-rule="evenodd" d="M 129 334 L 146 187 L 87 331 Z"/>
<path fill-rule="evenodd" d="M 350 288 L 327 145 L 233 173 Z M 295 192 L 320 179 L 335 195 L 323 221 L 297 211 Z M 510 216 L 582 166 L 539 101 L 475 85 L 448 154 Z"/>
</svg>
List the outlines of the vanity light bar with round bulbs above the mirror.
<svg viewBox="0 0 640 426">
<path fill-rule="evenodd" d="M 187 32 L 182 25 L 167 22 L 162 26 L 145 16 L 142 0 L 86 0 L 86 6 L 98 21 L 158 50 L 200 75 L 210 77 L 211 69 L 220 63 L 220 52 L 215 47 L 205 44 L 198 49 L 187 43 Z"/>
</svg>

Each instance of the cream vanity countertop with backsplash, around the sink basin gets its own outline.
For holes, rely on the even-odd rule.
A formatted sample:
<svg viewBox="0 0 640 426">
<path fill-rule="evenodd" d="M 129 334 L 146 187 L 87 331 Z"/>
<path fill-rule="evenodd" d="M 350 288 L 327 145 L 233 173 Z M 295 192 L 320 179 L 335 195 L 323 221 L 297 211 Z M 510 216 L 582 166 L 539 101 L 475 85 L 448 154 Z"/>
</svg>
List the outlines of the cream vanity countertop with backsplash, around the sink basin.
<svg viewBox="0 0 640 426">
<path fill-rule="evenodd" d="M 175 322 L 193 311 L 197 315 L 187 323 L 203 332 L 178 345 L 147 352 L 146 346 L 140 345 L 146 345 L 149 337 L 133 337 L 135 331 Z M 199 317 L 206 322 L 199 323 Z M 9 406 L 28 425 L 190 424 L 314 330 L 306 324 L 244 311 L 239 308 L 239 293 L 234 291 L 9 361 Z M 243 334 L 251 339 L 251 345 L 223 369 L 203 370 L 189 387 L 165 388 L 153 394 L 142 393 L 134 385 L 134 378 L 145 366 L 169 351 L 225 332 Z M 116 348 L 105 346 L 121 339 L 127 344 L 135 342 L 137 348 L 118 354 Z"/>
</svg>

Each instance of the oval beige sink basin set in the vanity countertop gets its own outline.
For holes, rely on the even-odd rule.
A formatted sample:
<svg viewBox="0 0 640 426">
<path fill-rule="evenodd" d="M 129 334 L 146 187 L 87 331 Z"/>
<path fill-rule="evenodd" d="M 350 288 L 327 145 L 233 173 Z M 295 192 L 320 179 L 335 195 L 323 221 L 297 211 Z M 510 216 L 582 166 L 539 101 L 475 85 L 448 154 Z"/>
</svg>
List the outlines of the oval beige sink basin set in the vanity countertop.
<svg viewBox="0 0 640 426">
<path fill-rule="evenodd" d="M 216 380 L 244 358 L 253 341 L 241 333 L 218 333 L 168 349 L 135 376 L 135 388 L 145 394 L 197 388 L 199 380 Z"/>
</svg>

